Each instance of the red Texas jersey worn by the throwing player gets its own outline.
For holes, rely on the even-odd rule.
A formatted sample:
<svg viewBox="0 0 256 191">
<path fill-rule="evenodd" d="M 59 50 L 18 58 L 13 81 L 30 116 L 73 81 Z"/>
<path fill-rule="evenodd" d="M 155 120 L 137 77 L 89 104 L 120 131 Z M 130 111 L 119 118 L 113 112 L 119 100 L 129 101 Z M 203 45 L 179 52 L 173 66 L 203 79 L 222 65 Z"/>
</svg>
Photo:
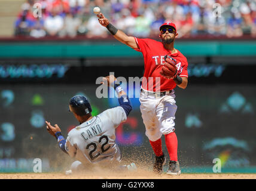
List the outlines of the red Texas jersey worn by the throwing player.
<svg viewBox="0 0 256 191">
<path fill-rule="evenodd" d="M 160 75 L 161 68 L 164 64 L 164 56 L 169 56 L 176 59 L 176 67 L 178 75 L 188 78 L 188 61 L 180 51 L 172 54 L 170 50 L 164 48 L 163 43 L 153 39 L 135 38 L 139 51 L 144 57 L 144 78 L 142 79 L 142 88 L 148 91 L 168 91 L 176 87 L 173 79 L 167 79 Z"/>
</svg>

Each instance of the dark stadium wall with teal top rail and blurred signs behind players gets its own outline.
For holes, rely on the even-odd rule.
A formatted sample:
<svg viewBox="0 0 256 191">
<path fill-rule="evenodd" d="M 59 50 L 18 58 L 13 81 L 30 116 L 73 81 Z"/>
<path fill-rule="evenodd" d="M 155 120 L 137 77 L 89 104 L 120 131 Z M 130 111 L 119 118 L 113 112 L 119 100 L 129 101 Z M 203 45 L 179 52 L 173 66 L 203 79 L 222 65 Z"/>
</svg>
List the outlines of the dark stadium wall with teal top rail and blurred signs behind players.
<svg viewBox="0 0 256 191">
<path fill-rule="evenodd" d="M 189 63 L 187 89 L 175 88 L 182 171 L 212 172 L 218 158 L 222 172 L 255 173 L 255 42 L 181 41 L 176 48 Z M 66 137 L 77 125 L 68 113 L 69 98 L 86 95 L 97 115 L 118 105 L 116 98 L 96 97 L 98 77 L 114 72 L 128 81 L 144 72 L 141 53 L 115 41 L 1 42 L 0 57 L 0 171 L 5 172 L 32 171 L 35 158 L 42 159 L 43 171 L 68 167 L 71 160 L 44 121 L 59 124 Z M 124 159 L 150 164 L 154 155 L 139 111 L 139 87 L 133 90 L 127 90 L 133 111 L 118 127 L 117 143 Z"/>
</svg>

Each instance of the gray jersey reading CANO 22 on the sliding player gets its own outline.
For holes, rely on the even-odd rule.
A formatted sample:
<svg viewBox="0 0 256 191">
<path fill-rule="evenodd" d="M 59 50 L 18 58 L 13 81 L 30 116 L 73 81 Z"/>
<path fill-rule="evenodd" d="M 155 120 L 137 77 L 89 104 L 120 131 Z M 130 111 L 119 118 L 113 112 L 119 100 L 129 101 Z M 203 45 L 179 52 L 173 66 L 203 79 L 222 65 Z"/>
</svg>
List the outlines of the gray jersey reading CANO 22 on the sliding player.
<svg viewBox="0 0 256 191">
<path fill-rule="evenodd" d="M 121 106 L 94 116 L 69 131 L 65 144 L 66 152 L 84 165 L 118 165 L 121 153 L 115 143 L 115 128 L 126 119 L 126 113 Z"/>
</svg>

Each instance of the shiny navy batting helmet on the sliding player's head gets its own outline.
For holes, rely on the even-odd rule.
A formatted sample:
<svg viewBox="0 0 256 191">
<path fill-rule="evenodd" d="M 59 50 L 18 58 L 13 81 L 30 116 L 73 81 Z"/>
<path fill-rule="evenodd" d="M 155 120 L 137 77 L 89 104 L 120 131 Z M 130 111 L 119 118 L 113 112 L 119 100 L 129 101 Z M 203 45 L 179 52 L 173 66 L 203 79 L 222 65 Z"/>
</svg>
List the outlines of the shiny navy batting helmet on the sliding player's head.
<svg viewBox="0 0 256 191">
<path fill-rule="evenodd" d="M 92 112 L 92 107 L 85 96 L 74 96 L 69 100 L 69 110 L 77 115 L 83 116 Z"/>
</svg>

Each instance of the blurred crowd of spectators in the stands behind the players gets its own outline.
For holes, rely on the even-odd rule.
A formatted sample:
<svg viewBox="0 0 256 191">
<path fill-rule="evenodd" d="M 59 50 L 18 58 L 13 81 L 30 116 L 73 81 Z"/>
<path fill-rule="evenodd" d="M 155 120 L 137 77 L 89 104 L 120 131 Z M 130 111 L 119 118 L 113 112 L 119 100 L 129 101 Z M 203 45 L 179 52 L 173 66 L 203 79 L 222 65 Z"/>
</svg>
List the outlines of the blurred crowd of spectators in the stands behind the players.
<svg viewBox="0 0 256 191">
<path fill-rule="evenodd" d="M 256 0 L 27 0 L 15 21 L 16 36 L 106 38 L 93 7 L 127 35 L 159 35 L 164 21 L 179 38 L 198 35 L 256 37 Z"/>
</svg>

